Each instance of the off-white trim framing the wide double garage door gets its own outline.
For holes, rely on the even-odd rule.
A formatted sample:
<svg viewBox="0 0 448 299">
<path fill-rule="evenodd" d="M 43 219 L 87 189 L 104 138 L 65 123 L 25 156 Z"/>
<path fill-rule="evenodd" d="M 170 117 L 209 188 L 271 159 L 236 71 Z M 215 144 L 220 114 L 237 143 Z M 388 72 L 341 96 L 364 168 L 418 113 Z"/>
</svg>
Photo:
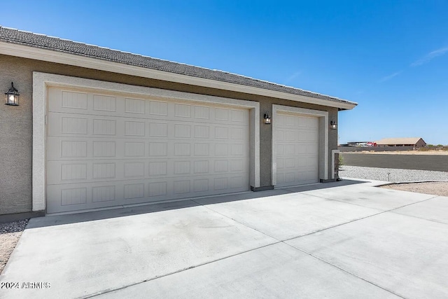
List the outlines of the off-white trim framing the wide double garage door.
<svg viewBox="0 0 448 299">
<path fill-rule="evenodd" d="M 183 101 L 239 106 L 249 109 L 249 183 L 255 188 L 260 187 L 260 127 L 258 126 L 260 123 L 260 104 L 258 102 L 33 72 L 33 211 L 42 211 L 46 208 L 45 146 L 48 86 L 59 88 L 87 88 L 90 90 L 125 93 L 126 95 L 151 96 L 155 99 L 179 99 Z"/>
</svg>

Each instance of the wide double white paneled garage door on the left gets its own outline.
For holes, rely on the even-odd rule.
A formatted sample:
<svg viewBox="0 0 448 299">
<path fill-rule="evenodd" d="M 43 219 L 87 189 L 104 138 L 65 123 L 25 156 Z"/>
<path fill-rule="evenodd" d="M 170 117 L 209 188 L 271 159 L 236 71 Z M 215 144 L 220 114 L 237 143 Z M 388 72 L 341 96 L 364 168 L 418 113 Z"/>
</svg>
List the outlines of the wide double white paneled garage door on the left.
<svg viewBox="0 0 448 299">
<path fill-rule="evenodd" d="M 249 189 L 248 109 L 48 89 L 47 212 Z"/>
</svg>

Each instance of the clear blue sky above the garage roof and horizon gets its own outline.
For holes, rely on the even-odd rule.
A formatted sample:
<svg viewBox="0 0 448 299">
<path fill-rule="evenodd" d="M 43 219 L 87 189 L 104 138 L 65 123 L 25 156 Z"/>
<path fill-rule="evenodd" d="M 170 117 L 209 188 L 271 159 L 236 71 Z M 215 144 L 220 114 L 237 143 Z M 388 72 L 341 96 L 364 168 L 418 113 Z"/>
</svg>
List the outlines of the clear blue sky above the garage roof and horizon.
<svg viewBox="0 0 448 299">
<path fill-rule="evenodd" d="M 13 11 L 12 18 L 5 18 Z M 448 1 L 13 1 L 0 24 L 358 102 L 339 142 L 448 144 Z"/>
</svg>

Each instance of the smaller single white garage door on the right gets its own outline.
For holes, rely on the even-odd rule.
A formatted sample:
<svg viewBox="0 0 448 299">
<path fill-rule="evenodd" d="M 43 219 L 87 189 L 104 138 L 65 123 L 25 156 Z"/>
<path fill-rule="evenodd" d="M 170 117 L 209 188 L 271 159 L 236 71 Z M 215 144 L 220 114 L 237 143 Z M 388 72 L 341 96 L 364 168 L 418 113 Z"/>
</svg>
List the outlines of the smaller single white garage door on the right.
<svg viewBox="0 0 448 299">
<path fill-rule="evenodd" d="M 318 118 L 276 116 L 276 187 L 318 182 Z"/>
</svg>

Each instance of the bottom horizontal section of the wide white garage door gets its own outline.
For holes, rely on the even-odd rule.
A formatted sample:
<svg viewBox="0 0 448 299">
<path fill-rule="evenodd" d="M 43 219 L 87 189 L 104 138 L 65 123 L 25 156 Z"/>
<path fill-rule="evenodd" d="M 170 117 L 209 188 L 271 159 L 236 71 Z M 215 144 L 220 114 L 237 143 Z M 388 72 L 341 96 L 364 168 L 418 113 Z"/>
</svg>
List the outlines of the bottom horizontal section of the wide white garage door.
<svg viewBox="0 0 448 299">
<path fill-rule="evenodd" d="M 247 190 L 245 175 L 66 183 L 47 186 L 48 213 L 179 200 Z"/>
</svg>

